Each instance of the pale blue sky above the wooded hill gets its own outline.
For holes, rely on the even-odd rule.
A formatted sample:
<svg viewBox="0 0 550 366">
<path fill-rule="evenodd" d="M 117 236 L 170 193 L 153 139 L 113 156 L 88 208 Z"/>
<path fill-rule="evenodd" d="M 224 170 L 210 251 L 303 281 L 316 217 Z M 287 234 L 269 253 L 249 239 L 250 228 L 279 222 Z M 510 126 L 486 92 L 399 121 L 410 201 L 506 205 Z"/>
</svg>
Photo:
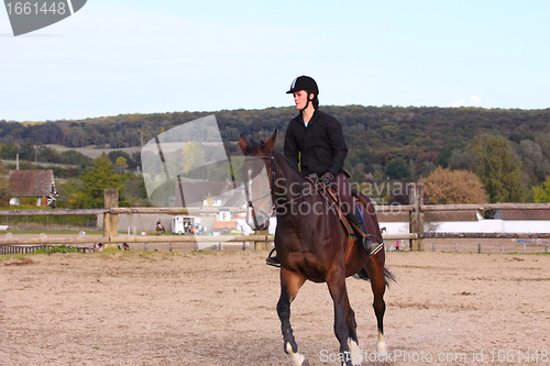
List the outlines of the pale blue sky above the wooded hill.
<svg viewBox="0 0 550 366">
<path fill-rule="evenodd" d="M 13 36 L 0 9 L 0 120 L 294 106 L 546 109 L 550 1 L 90 0 Z"/>
</svg>

